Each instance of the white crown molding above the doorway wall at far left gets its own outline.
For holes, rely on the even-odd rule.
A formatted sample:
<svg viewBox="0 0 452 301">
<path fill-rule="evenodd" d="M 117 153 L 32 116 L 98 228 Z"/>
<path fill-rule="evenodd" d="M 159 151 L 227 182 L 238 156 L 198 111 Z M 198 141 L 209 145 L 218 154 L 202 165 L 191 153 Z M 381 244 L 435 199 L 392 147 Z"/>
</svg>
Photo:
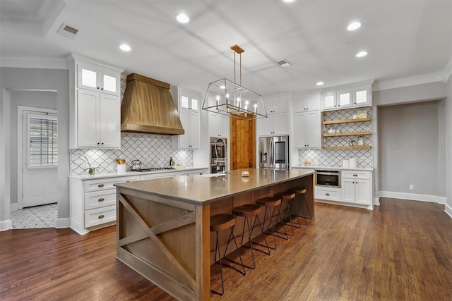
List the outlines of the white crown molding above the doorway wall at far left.
<svg viewBox="0 0 452 301">
<path fill-rule="evenodd" d="M 33 69 L 68 69 L 66 58 L 47 57 L 3 57 L 0 59 L 0 67 L 8 68 L 33 68 Z"/>
</svg>

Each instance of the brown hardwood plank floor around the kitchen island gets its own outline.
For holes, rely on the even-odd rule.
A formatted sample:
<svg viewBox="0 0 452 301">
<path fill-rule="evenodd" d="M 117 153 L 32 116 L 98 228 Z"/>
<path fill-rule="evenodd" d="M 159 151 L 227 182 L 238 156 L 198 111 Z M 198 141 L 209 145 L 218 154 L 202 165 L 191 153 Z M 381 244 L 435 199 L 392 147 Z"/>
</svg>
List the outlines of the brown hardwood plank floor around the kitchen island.
<svg viewBox="0 0 452 301">
<path fill-rule="evenodd" d="M 452 300 L 452 219 L 444 205 L 381 199 L 374 211 L 316 203 L 256 269 L 223 269 L 212 300 Z M 250 259 L 249 249 L 244 258 Z M 115 228 L 0 232 L 0 300 L 174 300 L 115 259 Z M 218 265 L 213 285 L 219 288 Z"/>
</svg>

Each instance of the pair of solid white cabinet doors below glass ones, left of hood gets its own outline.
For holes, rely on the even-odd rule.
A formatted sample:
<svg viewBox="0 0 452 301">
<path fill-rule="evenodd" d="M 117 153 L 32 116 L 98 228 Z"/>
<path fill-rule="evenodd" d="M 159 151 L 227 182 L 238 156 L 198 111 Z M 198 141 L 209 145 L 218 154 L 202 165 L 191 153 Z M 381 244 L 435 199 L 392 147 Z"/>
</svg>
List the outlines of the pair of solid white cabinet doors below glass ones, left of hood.
<svg viewBox="0 0 452 301">
<path fill-rule="evenodd" d="M 77 89 L 76 130 L 71 148 L 121 147 L 119 96 Z"/>
</svg>

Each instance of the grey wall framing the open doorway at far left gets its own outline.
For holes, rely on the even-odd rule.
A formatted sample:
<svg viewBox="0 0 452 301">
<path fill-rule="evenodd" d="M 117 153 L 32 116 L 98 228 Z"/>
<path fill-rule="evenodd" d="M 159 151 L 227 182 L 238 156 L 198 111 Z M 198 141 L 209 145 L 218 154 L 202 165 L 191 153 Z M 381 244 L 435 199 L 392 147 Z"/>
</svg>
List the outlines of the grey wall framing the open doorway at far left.
<svg viewBox="0 0 452 301">
<path fill-rule="evenodd" d="M 56 69 L 0 68 L 0 231 L 11 227 L 10 173 L 11 92 L 17 90 L 56 90 L 58 125 L 58 219 L 57 227 L 69 226 L 69 71 Z M 13 179 L 12 179 L 13 180 Z M 6 227 L 6 228 L 5 228 Z"/>
</svg>

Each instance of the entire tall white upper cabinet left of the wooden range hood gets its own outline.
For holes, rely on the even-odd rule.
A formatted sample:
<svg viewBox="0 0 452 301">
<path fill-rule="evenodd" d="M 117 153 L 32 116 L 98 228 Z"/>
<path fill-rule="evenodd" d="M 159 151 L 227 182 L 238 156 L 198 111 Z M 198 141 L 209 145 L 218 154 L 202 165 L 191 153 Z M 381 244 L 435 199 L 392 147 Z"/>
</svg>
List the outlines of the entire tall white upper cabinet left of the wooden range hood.
<svg viewBox="0 0 452 301">
<path fill-rule="evenodd" d="M 122 69 L 69 56 L 69 147 L 121 147 L 120 78 Z"/>
</svg>

